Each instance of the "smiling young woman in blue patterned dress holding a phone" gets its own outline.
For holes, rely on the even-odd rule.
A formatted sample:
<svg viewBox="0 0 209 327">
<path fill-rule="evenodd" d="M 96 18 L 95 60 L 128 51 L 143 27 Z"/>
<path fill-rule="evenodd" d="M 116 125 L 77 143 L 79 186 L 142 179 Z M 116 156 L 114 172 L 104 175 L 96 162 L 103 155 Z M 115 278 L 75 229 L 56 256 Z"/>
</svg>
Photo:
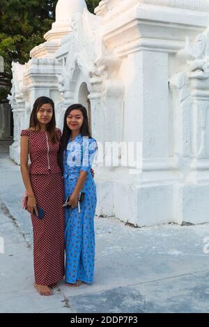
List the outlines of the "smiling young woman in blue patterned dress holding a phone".
<svg viewBox="0 0 209 327">
<path fill-rule="evenodd" d="M 70 287 L 93 282 L 97 196 L 91 165 L 96 151 L 87 111 L 81 104 L 73 104 L 65 112 L 59 152 L 65 198 L 70 197 L 65 207 L 65 282 Z M 84 201 L 79 205 L 81 193 L 84 193 Z"/>
</svg>

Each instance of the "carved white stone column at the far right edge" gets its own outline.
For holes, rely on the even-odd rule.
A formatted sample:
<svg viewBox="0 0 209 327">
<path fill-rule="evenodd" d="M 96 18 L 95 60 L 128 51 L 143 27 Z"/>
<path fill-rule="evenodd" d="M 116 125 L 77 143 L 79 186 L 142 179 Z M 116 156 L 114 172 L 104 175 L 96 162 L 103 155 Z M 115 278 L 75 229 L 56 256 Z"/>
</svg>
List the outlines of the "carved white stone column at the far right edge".
<svg viewBox="0 0 209 327">
<path fill-rule="evenodd" d="M 200 3 L 201 4 L 201 3 Z M 178 52 L 180 72 L 173 74 L 174 156 L 179 180 L 175 185 L 176 212 L 183 221 L 208 221 L 209 97 L 208 29 Z"/>
</svg>

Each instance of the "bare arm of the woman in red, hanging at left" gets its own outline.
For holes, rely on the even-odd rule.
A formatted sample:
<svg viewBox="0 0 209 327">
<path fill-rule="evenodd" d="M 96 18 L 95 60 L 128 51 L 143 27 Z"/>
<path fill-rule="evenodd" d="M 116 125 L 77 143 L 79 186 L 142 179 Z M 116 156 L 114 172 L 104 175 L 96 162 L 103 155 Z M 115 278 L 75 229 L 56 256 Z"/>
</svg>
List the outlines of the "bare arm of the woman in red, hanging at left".
<svg viewBox="0 0 209 327">
<path fill-rule="evenodd" d="M 29 161 L 29 136 L 21 136 L 21 139 L 20 139 L 20 170 L 22 173 L 22 180 L 24 182 L 26 193 L 28 195 L 27 210 L 28 210 L 28 212 L 33 214 L 33 210 L 35 209 L 36 215 L 38 216 L 38 210 L 36 207 L 36 198 L 34 196 L 30 177 L 29 177 L 28 161 Z"/>
</svg>

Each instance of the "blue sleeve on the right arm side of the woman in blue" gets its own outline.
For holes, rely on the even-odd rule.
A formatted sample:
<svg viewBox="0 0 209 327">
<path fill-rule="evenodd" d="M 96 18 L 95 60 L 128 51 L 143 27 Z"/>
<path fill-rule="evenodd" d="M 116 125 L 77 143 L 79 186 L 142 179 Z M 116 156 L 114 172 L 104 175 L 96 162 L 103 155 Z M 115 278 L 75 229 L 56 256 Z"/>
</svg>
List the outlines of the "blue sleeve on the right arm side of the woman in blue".
<svg viewBox="0 0 209 327">
<path fill-rule="evenodd" d="M 83 157 L 81 170 L 90 173 L 93 160 L 98 150 L 97 142 L 94 138 L 88 138 L 84 136 L 83 140 Z"/>
</svg>

